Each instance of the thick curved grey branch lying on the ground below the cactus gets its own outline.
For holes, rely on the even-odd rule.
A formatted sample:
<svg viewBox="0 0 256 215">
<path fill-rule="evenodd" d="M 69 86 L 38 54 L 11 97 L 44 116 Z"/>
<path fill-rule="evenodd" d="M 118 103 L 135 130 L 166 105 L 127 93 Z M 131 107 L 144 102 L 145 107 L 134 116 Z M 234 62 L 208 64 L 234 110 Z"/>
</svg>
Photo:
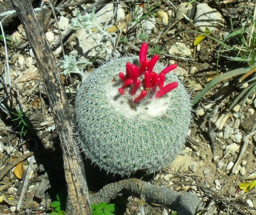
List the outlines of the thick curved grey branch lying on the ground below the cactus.
<svg viewBox="0 0 256 215">
<path fill-rule="evenodd" d="M 193 193 L 180 193 L 168 187 L 150 185 L 136 178 L 106 185 L 98 193 L 91 196 L 91 203 L 110 202 L 120 193 L 143 198 L 147 203 L 162 204 L 180 215 L 193 215 L 201 208 L 198 197 Z"/>
</svg>

